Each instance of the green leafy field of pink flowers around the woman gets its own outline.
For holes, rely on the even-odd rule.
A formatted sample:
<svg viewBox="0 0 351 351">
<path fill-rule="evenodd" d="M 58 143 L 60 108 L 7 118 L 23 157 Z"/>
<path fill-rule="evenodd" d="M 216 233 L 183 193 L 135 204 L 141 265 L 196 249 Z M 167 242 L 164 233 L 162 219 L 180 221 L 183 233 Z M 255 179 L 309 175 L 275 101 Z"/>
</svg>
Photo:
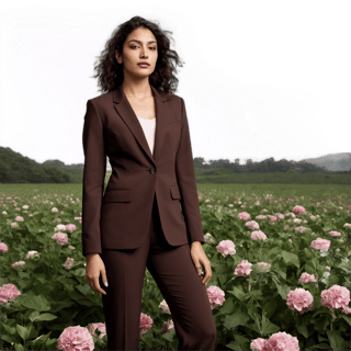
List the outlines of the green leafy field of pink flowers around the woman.
<svg viewBox="0 0 351 351">
<path fill-rule="evenodd" d="M 348 185 L 199 184 L 216 350 L 350 350 Z M 81 185 L 3 184 L 1 350 L 107 350 L 86 280 Z M 177 350 L 146 270 L 140 350 Z"/>
</svg>

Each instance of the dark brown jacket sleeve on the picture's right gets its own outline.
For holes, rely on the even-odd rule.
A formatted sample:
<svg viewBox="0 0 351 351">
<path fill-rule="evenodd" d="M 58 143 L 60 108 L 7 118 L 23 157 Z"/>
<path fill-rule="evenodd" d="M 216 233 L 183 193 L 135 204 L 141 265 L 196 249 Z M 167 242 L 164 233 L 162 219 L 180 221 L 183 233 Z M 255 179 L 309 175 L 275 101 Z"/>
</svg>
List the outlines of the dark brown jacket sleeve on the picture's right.
<svg viewBox="0 0 351 351">
<path fill-rule="evenodd" d="M 183 98 L 181 98 L 181 136 L 176 156 L 176 174 L 181 193 L 181 205 L 186 224 L 189 244 L 201 241 L 203 245 L 205 239 L 202 233 L 191 136 Z"/>
</svg>

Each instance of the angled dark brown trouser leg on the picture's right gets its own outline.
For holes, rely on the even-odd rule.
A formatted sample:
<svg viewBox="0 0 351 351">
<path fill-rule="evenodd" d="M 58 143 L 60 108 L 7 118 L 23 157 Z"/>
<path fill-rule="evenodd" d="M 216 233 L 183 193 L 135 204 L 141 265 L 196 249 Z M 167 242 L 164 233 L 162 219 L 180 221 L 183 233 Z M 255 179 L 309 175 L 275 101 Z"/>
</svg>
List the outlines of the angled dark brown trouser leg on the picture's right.
<svg viewBox="0 0 351 351">
<path fill-rule="evenodd" d="M 192 261 L 190 245 L 168 245 L 156 210 L 154 206 L 146 264 L 172 314 L 179 350 L 215 350 L 216 327 L 211 304 Z"/>
</svg>

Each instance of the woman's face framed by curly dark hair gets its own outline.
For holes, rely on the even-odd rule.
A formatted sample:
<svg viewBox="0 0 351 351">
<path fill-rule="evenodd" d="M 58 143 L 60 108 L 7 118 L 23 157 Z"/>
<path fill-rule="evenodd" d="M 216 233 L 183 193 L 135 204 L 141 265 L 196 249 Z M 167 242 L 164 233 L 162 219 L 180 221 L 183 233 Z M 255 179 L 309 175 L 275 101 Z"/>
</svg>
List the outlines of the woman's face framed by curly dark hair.
<svg viewBox="0 0 351 351">
<path fill-rule="evenodd" d="M 123 55 L 116 52 L 116 60 L 123 64 L 124 75 L 134 77 L 148 77 L 155 68 L 158 57 L 157 41 L 152 32 L 148 29 L 139 27 L 132 32 L 123 44 Z M 146 68 L 138 64 L 146 61 Z"/>
</svg>

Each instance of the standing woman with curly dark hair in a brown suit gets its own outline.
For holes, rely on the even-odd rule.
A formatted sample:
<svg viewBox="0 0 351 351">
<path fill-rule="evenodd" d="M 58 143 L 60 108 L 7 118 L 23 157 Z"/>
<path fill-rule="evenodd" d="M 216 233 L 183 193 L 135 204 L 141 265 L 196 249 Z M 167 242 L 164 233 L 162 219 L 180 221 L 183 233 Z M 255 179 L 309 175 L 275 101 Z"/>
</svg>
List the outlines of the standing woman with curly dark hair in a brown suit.
<svg viewBox="0 0 351 351">
<path fill-rule="evenodd" d="M 170 307 L 179 350 L 215 350 L 189 123 L 174 94 L 174 67 L 183 65 L 171 34 L 138 15 L 116 26 L 94 65 L 106 93 L 87 102 L 82 250 L 88 284 L 102 294 L 109 350 L 138 349 L 146 268 Z"/>
</svg>

